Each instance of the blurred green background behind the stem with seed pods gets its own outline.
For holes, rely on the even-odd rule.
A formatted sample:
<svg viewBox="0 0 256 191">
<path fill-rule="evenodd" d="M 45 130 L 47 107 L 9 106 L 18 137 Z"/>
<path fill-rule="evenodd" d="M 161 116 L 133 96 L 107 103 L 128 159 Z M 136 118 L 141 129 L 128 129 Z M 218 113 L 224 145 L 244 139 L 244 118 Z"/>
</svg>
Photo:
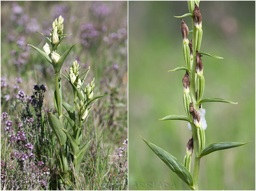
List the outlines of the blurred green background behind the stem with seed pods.
<svg viewBox="0 0 256 191">
<path fill-rule="evenodd" d="M 203 98 L 238 102 L 204 103 L 208 128 L 206 146 L 214 142 L 249 144 L 211 153 L 202 158 L 201 190 L 255 190 L 255 2 L 202 1 L 201 51 Z M 167 115 L 186 115 L 183 107 L 184 71 L 181 16 L 186 1 L 129 2 L 129 189 L 189 189 L 139 137 L 152 142 L 183 162 L 191 138 L 187 122 L 158 121 Z M 189 30 L 191 18 L 184 17 Z M 188 38 L 191 40 L 192 35 Z M 194 155 L 192 155 L 194 158 Z M 193 171 L 194 159 L 191 163 Z M 153 188 L 143 186 L 152 183 Z M 167 184 L 170 185 L 168 187 Z M 137 187 L 135 186 L 137 184 Z M 142 188 L 140 185 L 146 188 Z M 176 188 L 173 185 L 176 185 Z M 162 187 L 160 186 L 162 185 Z"/>
</svg>

